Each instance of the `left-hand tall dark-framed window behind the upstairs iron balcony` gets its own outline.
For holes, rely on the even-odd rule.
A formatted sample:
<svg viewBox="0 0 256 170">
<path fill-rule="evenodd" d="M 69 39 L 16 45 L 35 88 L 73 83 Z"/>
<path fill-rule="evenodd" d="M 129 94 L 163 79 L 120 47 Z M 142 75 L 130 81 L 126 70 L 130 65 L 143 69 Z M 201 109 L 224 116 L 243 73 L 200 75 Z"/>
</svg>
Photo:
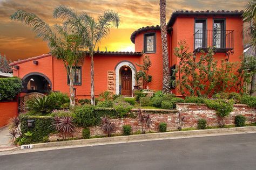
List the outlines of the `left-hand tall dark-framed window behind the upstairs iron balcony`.
<svg viewBox="0 0 256 170">
<path fill-rule="evenodd" d="M 194 21 L 194 49 L 207 47 L 206 19 Z"/>
</svg>

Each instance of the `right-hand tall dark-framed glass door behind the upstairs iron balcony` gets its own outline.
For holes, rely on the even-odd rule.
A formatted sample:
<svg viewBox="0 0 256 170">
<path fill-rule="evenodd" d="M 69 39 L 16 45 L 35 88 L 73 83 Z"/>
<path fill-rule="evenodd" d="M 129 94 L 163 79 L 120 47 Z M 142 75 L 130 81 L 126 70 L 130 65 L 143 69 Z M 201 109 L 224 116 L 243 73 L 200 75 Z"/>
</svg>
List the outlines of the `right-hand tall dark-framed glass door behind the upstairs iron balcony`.
<svg viewBox="0 0 256 170">
<path fill-rule="evenodd" d="M 213 46 L 216 48 L 225 48 L 225 20 L 213 20 Z"/>
</svg>

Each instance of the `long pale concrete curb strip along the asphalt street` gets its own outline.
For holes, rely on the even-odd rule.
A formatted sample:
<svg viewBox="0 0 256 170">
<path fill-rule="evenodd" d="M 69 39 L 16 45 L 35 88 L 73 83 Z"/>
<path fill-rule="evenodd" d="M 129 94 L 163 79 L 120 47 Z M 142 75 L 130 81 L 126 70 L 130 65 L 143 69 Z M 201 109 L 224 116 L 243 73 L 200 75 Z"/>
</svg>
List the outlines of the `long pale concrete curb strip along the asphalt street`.
<svg viewBox="0 0 256 170">
<path fill-rule="evenodd" d="M 194 138 L 194 137 L 206 137 L 206 136 L 223 136 L 228 134 L 245 134 L 245 133 L 256 133 L 256 126 L 248 126 L 248 127 L 241 127 L 241 128 L 175 131 L 175 132 L 165 132 L 165 133 L 146 133 L 146 134 L 135 134 L 131 136 L 116 136 L 116 137 L 105 137 L 105 138 L 56 141 L 51 143 L 32 144 L 32 148 L 27 150 L 21 150 L 21 146 L 11 148 L 11 149 L 0 150 L 0 155 L 26 153 L 26 152 L 38 152 L 38 151 L 47 151 L 47 150 L 58 150 L 62 148 L 72 148 L 72 147 L 134 143 L 138 141 L 181 139 L 181 138 Z"/>
</svg>

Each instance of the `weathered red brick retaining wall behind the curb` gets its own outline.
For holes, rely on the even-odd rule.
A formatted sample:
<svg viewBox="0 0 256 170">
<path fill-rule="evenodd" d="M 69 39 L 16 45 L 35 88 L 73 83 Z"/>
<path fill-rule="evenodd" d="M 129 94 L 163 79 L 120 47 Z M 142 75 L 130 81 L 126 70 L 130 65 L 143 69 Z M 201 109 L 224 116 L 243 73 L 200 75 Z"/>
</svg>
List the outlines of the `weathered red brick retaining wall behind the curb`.
<svg viewBox="0 0 256 170">
<path fill-rule="evenodd" d="M 136 116 L 137 109 L 132 112 Z M 179 126 L 180 119 L 184 117 L 182 128 L 197 128 L 198 119 L 204 118 L 207 121 L 207 126 L 218 126 L 219 119 L 216 116 L 215 110 L 208 109 L 205 104 L 194 103 L 178 103 L 177 110 L 145 110 L 150 114 L 152 125 L 147 131 L 159 131 L 158 126 L 161 122 L 167 123 L 167 130 L 176 130 Z M 256 109 L 249 108 L 244 104 L 235 104 L 234 111 L 225 119 L 225 124 L 234 124 L 234 117 L 242 114 L 247 118 L 246 123 L 256 122 Z M 131 125 L 132 132 L 141 131 L 141 126 L 136 118 L 117 118 L 110 119 L 116 125 L 116 132 L 114 134 L 122 133 L 123 125 Z M 91 127 L 91 136 L 104 135 L 100 126 Z"/>
</svg>

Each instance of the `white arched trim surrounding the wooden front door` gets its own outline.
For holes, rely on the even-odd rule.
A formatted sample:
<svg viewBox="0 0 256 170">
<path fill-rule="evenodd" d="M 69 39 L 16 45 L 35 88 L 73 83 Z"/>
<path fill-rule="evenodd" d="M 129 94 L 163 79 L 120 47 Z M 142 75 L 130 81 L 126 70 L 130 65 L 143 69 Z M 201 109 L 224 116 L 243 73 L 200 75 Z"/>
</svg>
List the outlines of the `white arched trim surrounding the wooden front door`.
<svg viewBox="0 0 256 170">
<path fill-rule="evenodd" d="M 134 79 L 134 66 L 131 64 L 131 62 L 127 62 L 127 61 L 123 61 L 120 62 L 117 66 L 116 66 L 116 94 L 119 95 L 119 71 L 120 68 L 123 66 L 127 66 L 130 67 L 132 70 L 132 90 L 133 90 L 133 86 L 135 86 L 135 79 Z"/>
</svg>

